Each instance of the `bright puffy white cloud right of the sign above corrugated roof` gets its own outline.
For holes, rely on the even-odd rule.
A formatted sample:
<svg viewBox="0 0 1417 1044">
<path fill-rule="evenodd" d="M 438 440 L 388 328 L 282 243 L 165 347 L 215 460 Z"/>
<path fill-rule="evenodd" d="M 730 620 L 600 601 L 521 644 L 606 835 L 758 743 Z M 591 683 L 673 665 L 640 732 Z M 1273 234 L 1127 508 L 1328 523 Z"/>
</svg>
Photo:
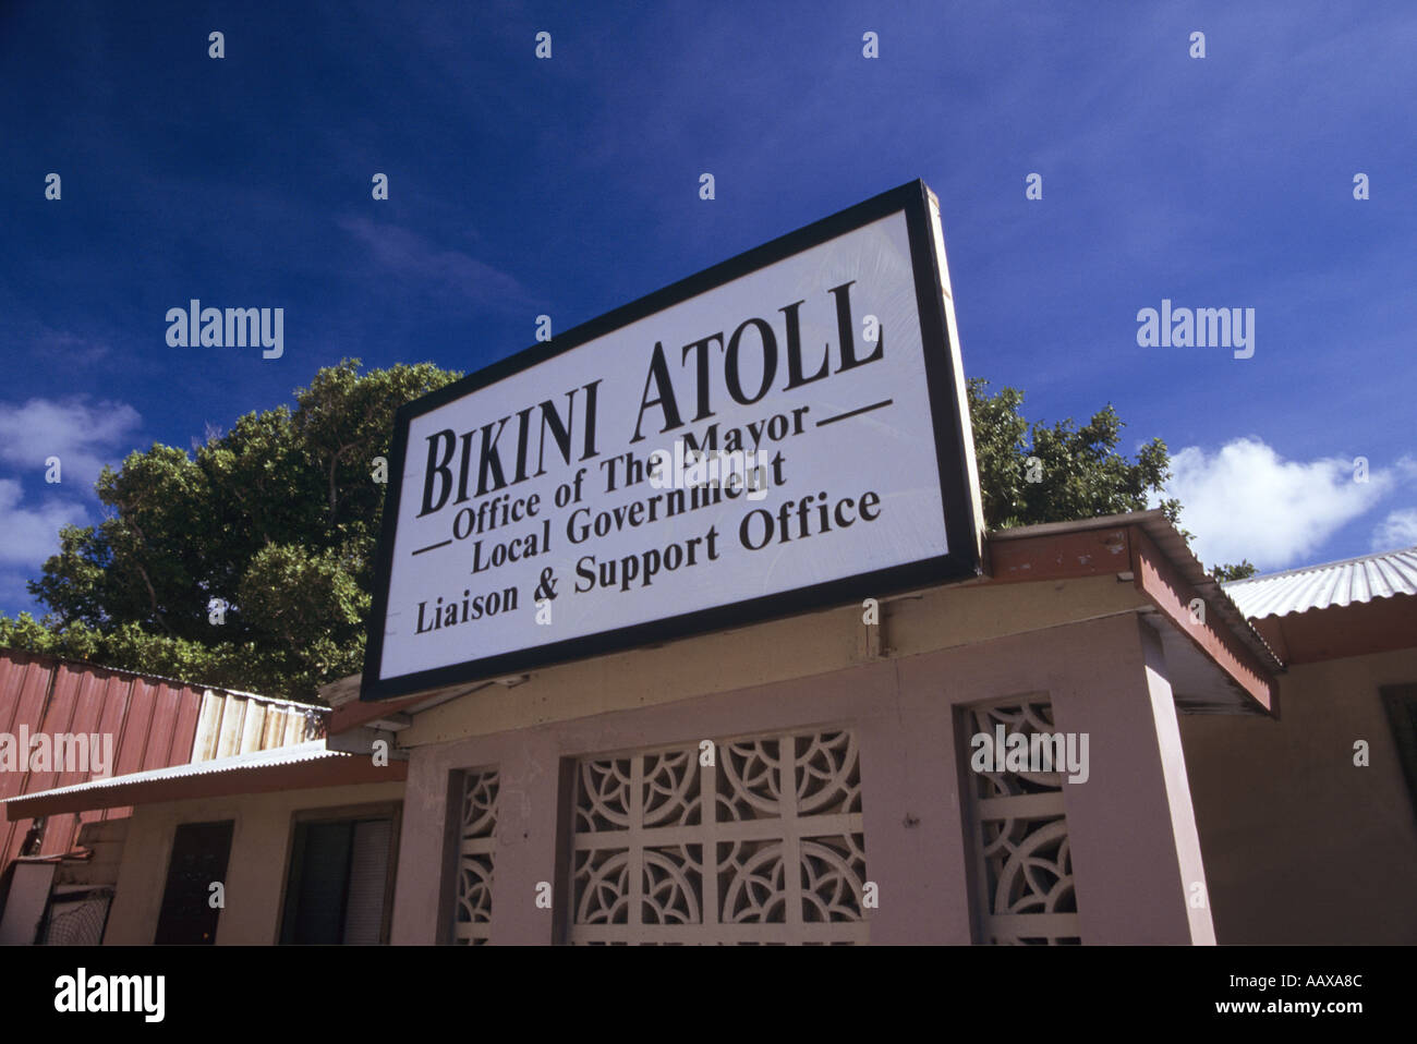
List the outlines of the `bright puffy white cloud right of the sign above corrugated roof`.
<svg viewBox="0 0 1417 1044">
<path fill-rule="evenodd" d="M 1312 555 L 1340 527 L 1372 510 L 1411 462 L 1355 482 L 1352 459 L 1284 460 L 1257 438 L 1233 439 L 1207 455 L 1187 446 L 1172 458 L 1166 496 L 1182 503 L 1180 524 L 1207 565 L 1248 558 L 1278 569 Z"/>
</svg>

